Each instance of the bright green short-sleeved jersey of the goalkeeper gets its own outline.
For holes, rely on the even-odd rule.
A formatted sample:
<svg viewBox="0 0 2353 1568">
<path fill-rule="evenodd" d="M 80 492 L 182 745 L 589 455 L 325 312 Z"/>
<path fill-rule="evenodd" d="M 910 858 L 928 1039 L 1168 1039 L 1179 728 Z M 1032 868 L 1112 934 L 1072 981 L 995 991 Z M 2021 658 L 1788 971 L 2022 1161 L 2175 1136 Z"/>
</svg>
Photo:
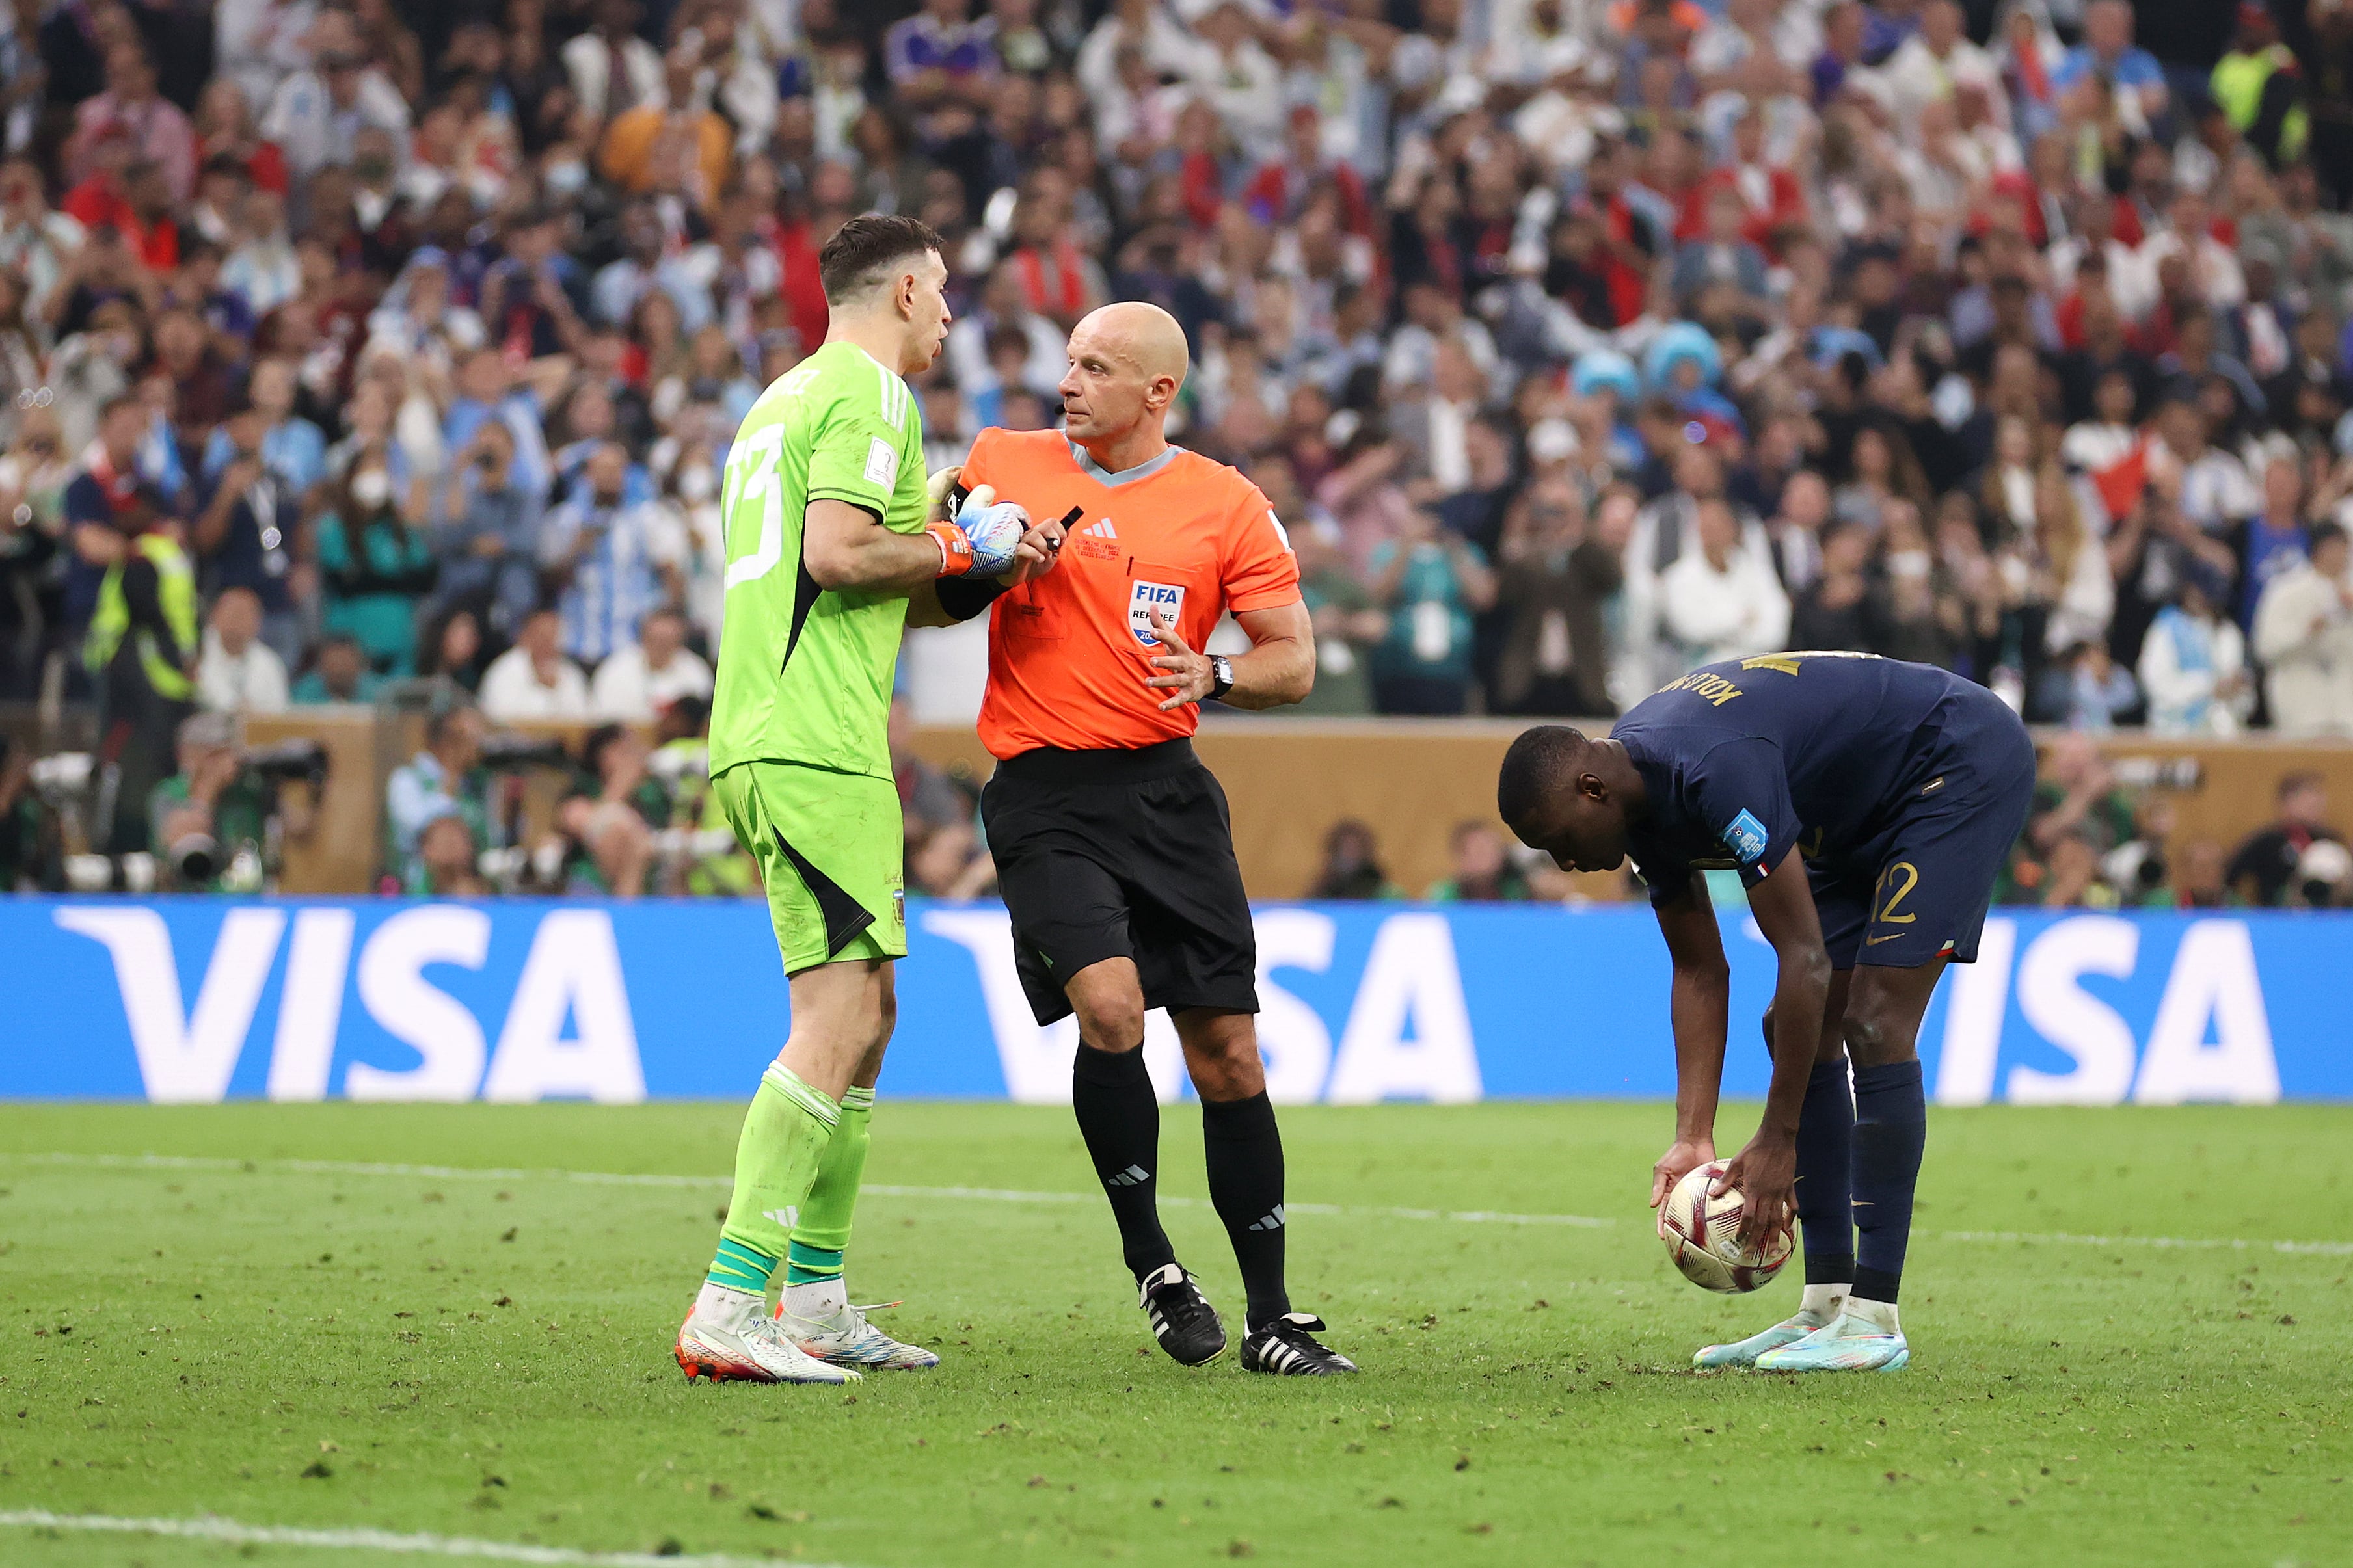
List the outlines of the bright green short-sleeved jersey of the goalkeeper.
<svg viewBox="0 0 2353 1568">
<path fill-rule="evenodd" d="M 854 343 L 776 378 L 727 449 L 727 590 L 711 771 L 800 762 L 889 778 L 889 691 L 906 592 L 819 588 L 800 564 L 812 501 L 920 534 L 922 416 L 906 381 Z"/>
</svg>

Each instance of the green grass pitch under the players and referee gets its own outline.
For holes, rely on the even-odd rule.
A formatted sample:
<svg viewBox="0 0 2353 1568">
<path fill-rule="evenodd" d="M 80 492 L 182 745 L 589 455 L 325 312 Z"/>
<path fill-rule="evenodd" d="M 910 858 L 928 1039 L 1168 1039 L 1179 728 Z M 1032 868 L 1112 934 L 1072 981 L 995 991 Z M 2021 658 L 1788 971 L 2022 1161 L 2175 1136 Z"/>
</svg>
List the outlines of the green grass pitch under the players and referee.
<svg viewBox="0 0 2353 1568">
<path fill-rule="evenodd" d="M 7 1107 L 0 1514 L 856 1568 L 2353 1561 L 2353 1110 L 1934 1112 L 1913 1366 L 1809 1380 L 1687 1371 L 1798 1269 L 1673 1274 L 1664 1107 L 1289 1110 L 1294 1293 L 1365 1366 L 1313 1382 L 1148 1347 L 1068 1112 L 885 1098 L 852 1293 L 946 1363 L 847 1394 L 671 1363 L 739 1119 Z M 1169 1232 L 1233 1312 L 1193 1126 Z M 24 1568 L 231 1561 L 428 1559 L 0 1528 Z"/>
</svg>

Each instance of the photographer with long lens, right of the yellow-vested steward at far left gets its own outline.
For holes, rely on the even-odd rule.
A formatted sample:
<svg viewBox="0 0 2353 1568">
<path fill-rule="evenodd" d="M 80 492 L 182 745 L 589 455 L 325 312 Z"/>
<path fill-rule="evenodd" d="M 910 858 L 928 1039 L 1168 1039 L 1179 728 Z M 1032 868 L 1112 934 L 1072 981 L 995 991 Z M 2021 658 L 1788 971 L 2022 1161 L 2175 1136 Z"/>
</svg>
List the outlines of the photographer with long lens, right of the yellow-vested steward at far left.
<svg viewBox="0 0 2353 1568">
<path fill-rule="evenodd" d="M 278 783 L 308 778 L 306 799 Z M 278 877 L 278 846 L 311 837 L 325 757 L 308 741 L 249 752 L 238 717 L 198 712 L 179 724 L 179 771 L 148 795 L 158 886 L 176 893 L 261 893 Z"/>
</svg>

